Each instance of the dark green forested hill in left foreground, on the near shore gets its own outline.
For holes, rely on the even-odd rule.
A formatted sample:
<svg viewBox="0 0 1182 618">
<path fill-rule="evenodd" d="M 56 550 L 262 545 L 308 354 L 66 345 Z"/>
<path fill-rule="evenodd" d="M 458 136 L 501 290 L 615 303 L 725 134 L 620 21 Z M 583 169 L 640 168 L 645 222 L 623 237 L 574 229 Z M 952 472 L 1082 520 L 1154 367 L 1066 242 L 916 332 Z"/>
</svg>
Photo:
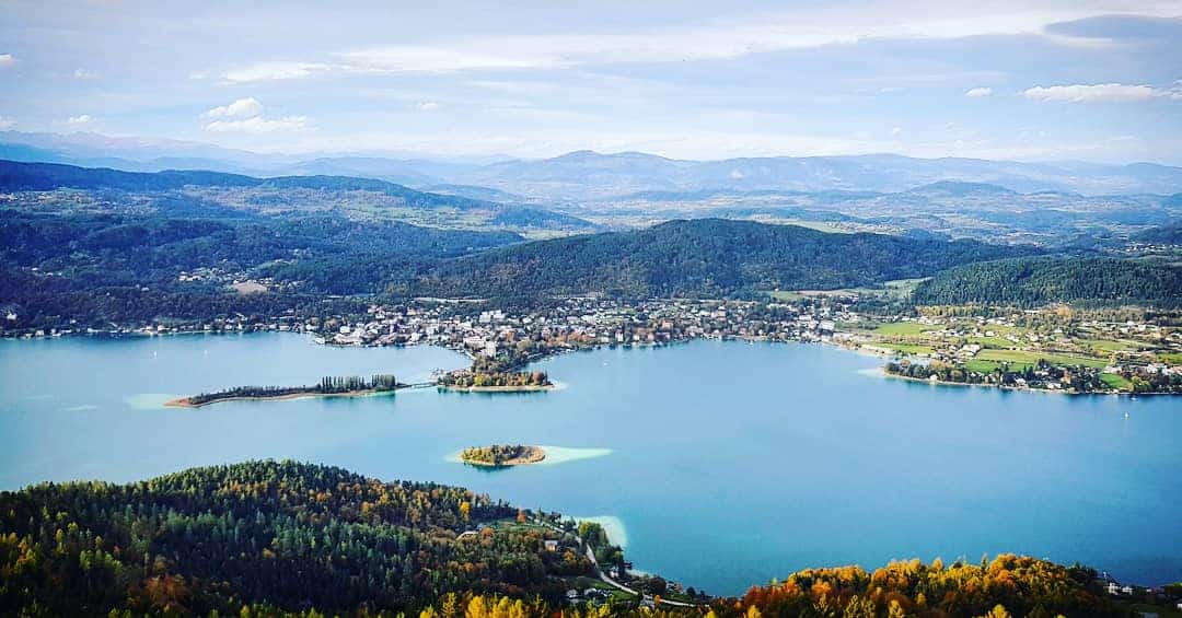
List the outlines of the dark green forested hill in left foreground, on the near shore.
<svg viewBox="0 0 1182 618">
<path fill-rule="evenodd" d="M 417 611 L 447 592 L 560 600 L 591 574 L 502 502 L 338 468 L 252 462 L 132 484 L 0 493 L 0 614 Z M 264 612 L 267 613 L 267 612 Z M 245 616 L 245 614 L 243 614 Z"/>
</svg>

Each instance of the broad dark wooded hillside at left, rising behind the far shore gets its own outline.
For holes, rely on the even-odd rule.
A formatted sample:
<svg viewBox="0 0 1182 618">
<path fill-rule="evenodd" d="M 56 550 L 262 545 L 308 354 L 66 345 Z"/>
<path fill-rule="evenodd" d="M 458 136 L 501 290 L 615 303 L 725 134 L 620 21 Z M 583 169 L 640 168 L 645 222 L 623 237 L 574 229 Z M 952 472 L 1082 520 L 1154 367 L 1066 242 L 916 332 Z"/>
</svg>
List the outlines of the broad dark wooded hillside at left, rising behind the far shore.
<svg viewBox="0 0 1182 618">
<path fill-rule="evenodd" d="M 329 311 L 339 303 L 327 294 L 381 292 L 439 260 L 522 240 L 201 200 L 130 203 L 138 210 L 0 209 L 0 303 L 37 327 Z M 267 293 L 232 288 L 247 280 Z"/>
</svg>

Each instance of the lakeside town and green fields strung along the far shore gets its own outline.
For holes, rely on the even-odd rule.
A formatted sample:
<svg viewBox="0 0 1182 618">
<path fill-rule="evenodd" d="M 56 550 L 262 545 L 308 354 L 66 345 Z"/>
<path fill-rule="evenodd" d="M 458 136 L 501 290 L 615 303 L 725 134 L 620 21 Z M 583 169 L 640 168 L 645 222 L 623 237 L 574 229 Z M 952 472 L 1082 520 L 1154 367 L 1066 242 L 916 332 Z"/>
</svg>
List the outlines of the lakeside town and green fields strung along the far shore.
<svg viewBox="0 0 1182 618">
<path fill-rule="evenodd" d="M 553 386 L 528 363 L 599 346 L 657 346 L 693 339 L 824 343 L 889 359 L 886 375 L 1065 393 L 1182 392 L 1182 319 L 1138 310 L 891 306 L 865 291 L 785 293 L 766 299 L 569 297 L 496 308 L 491 301 L 421 298 L 372 303 L 351 314 L 229 315 L 203 321 L 112 326 L 109 331 L 9 332 L 176 334 L 279 331 L 340 346 L 437 345 L 473 366 L 440 376 L 442 388 L 530 391 Z"/>
</svg>

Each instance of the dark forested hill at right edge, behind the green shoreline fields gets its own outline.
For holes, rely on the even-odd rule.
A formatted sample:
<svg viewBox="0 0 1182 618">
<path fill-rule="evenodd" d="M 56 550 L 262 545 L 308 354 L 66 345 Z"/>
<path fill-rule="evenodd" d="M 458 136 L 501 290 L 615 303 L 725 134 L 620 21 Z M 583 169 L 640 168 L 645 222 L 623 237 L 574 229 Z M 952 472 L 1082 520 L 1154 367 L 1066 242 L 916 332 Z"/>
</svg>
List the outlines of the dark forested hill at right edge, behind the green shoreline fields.
<svg viewBox="0 0 1182 618">
<path fill-rule="evenodd" d="M 1039 306 L 1090 301 L 1177 307 L 1182 266 L 1112 258 L 1024 258 L 970 264 L 920 284 L 918 305 Z"/>
</svg>

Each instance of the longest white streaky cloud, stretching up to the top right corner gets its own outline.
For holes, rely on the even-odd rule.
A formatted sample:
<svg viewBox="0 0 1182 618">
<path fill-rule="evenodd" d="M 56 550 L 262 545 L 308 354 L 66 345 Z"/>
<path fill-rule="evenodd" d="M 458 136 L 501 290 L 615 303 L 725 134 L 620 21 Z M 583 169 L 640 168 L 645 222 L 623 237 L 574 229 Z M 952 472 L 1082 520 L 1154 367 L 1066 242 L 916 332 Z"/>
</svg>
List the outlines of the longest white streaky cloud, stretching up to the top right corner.
<svg viewBox="0 0 1182 618">
<path fill-rule="evenodd" d="M 378 45 L 338 51 L 320 61 L 272 61 L 227 72 L 228 82 L 293 79 L 325 71 L 448 73 L 459 71 L 561 69 L 593 64 L 681 63 L 749 54 L 853 45 L 873 40 L 948 40 L 1022 34 L 1052 43 L 1086 44 L 1089 32 L 1064 27 L 1072 20 L 1112 13 L 1173 17 L 1176 0 L 1136 9 L 1124 0 L 1035 4 L 999 0 L 986 7 L 949 0 L 871 9 L 862 5 L 794 7 L 710 21 L 638 28 L 621 33 L 469 35 L 426 45 Z"/>
</svg>

